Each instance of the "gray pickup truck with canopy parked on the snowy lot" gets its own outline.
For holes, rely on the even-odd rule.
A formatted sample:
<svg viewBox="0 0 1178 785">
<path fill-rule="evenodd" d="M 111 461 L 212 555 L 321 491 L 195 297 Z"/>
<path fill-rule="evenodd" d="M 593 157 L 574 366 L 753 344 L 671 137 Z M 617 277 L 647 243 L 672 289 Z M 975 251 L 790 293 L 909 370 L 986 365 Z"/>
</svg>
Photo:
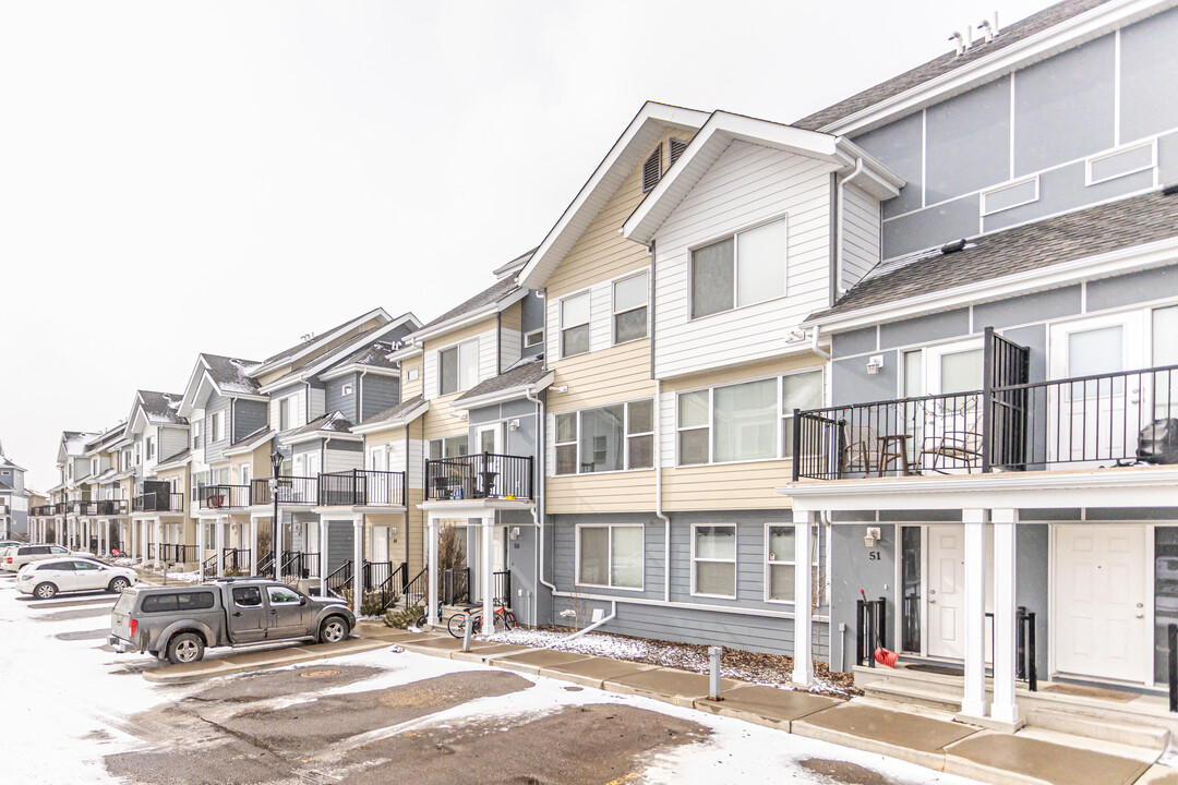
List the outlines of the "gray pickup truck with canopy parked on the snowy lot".
<svg viewBox="0 0 1178 785">
<path fill-rule="evenodd" d="M 172 664 L 196 663 L 211 646 L 270 640 L 348 638 L 356 616 L 344 600 L 307 597 L 265 578 L 197 586 L 131 586 L 111 612 L 108 641 L 118 651 L 151 652 Z"/>
</svg>

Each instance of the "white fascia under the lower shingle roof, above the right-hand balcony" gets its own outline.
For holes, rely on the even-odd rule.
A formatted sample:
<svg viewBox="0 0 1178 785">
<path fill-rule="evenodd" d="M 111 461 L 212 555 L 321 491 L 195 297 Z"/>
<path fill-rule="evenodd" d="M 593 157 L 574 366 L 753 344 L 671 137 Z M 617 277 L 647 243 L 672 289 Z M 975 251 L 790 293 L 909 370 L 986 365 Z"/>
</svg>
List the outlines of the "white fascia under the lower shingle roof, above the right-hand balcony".
<svg viewBox="0 0 1178 785">
<path fill-rule="evenodd" d="M 1013 275 L 977 281 L 938 292 L 928 292 L 920 297 L 881 302 L 880 305 L 848 311 L 847 313 L 806 319 L 802 327 L 818 326 L 826 332 L 845 332 L 858 327 L 874 326 L 884 321 L 908 319 L 928 313 L 954 308 L 964 305 L 975 305 L 1000 300 L 1019 294 L 1028 294 L 1048 288 L 1058 288 L 1097 278 L 1123 275 L 1151 267 L 1162 267 L 1178 261 L 1178 235 L 1118 248 L 1097 257 L 1085 257 L 1063 261 L 1050 267 L 1028 270 Z"/>
</svg>

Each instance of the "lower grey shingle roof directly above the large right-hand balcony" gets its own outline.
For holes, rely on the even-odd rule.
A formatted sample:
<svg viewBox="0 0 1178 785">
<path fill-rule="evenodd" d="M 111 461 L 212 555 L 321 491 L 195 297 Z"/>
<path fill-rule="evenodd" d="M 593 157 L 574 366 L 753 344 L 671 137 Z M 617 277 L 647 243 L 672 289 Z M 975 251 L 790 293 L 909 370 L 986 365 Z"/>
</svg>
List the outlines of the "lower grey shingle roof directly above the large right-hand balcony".
<svg viewBox="0 0 1178 785">
<path fill-rule="evenodd" d="M 1178 237 L 1178 195 L 1156 191 L 984 234 L 957 253 L 926 251 L 878 265 L 833 308 L 839 313 L 1048 267 L 1119 248 Z"/>
</svg>

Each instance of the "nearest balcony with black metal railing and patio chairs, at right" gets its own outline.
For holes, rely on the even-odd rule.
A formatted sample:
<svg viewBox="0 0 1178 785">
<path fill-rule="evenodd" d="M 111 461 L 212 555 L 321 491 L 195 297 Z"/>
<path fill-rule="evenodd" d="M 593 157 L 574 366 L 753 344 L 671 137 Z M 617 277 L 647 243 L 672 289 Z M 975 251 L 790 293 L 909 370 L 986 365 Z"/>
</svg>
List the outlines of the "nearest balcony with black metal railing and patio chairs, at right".
<svg viewBox="0 0 1178 785">
<path fill-rule="evenodd" d="M 795 412 L 794 481 L 1178 464 L 1178 365 Z"/>
</svg>

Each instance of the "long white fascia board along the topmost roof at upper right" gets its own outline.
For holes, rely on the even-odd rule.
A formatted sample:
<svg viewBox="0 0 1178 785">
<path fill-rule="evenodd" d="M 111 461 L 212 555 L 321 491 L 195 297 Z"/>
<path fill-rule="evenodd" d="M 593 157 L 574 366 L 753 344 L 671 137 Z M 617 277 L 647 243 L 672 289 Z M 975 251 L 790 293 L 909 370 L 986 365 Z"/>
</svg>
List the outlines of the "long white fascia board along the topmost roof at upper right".
<svg viewBox="0 0 1178 785">
<path fill-rule="evenodd" d="M 859 112 L 822 126 L 819 131 L 839 135 L 865 133 L 1176 5 L 1178 5 L 1178 0 L 1163 0 L 1162 2 L 1158 0 L 1110 0 L 1091 11 L 1052 25 L 1017 44 L 1011 44 L 991 55 L 979 58 L 902 93 L 876 101 Z"/>
</svg>

